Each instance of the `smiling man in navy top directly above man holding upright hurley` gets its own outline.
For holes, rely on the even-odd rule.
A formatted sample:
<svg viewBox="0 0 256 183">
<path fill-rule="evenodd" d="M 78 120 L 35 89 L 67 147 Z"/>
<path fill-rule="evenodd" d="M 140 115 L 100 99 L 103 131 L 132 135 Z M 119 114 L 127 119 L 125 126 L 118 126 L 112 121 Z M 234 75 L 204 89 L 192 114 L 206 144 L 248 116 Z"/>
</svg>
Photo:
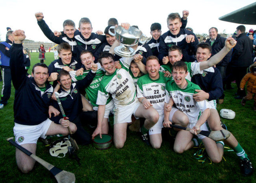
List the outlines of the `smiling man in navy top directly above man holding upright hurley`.
<svg viewBox="0 0 256 183">
<path fill-rule="evenodd" d="M 68 43 L 61 43 L 58 46 L 59 59 L 52 61 L 49 65 L 48 81 L 53 81 L 53 87 L 57 85 L 58 72 L 61 69 L 67 71 L 78 70 L 81 68 L 81 63 L 72 57 L 71 46 Z"/>
</svg>

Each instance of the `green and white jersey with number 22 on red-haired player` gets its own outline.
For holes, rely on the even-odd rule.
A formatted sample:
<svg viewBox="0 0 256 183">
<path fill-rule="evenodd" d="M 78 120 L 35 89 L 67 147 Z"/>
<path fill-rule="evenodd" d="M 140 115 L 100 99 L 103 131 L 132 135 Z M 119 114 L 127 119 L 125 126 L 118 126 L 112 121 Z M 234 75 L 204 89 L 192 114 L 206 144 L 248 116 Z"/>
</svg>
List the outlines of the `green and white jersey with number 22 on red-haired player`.
<svg viewBox="0 0 256 183">
<path fill-rule="evenodd" d="M 170 80 L 165 78 L 162 72 L 159 72 L 159 78 L 153 80 L 148 74 L 141 76 L 137 83 L 137 97 L 145 97 L 150 104 L 163 115 L 163 106 L 165 105 L 165 83 Z"/>
</svg>

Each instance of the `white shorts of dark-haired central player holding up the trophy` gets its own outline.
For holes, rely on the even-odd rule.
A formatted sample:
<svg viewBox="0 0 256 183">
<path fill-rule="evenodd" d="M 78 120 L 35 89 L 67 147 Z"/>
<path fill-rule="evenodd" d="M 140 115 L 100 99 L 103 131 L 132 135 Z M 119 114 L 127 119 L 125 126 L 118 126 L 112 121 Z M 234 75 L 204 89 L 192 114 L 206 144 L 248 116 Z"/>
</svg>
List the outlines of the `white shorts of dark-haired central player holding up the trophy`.
<svg viewBox="0 0 256 183">
<path fill-rule="evenodd" d="M 139 100 L 135 99 L 132 104 L 124 105 L 124 107 L 115 107 L 114 124 L 132 122 L 132 115 L 135 116 L 135 112 L 140 104 Z M 135 118 L 138 119 L 136 116 Z"/>
</svg>

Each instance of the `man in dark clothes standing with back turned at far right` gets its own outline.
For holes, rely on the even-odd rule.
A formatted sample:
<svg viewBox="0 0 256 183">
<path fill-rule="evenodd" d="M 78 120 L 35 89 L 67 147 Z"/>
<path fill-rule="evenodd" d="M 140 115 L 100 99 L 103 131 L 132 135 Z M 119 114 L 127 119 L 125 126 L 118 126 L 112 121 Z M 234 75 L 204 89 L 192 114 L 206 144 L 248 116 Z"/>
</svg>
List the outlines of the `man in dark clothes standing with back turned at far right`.
<svg viewBox="0 0 256 183">
<path fill-rule="evenodd" d="M 236 99 L 242 99 L 245 96 L 245 90 L 240 90 L 240 83 L 243 76 L 247 73 L 247 68 L 252 64 L 252 41 L 247 37 L 245 33 L 245 26 L 237 26 L 237 44 L 233 48 L 230 68 L 232 70 L 232 76 L 227 81 L 236 80 L 237 85 L 237 95 Z"/>
</svg>

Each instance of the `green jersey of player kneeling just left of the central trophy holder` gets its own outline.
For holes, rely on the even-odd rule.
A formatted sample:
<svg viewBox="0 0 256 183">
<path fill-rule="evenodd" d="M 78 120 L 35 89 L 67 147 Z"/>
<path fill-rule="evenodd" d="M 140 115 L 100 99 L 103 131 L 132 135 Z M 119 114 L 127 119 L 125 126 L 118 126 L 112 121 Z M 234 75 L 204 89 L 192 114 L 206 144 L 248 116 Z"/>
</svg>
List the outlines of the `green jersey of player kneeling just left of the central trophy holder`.
<svg viewBox="0 0 256 183">
<path fill-rule="evenodd" d="M 96 76 L 93 78 L 93 81 L 91 82 L 91 84 L 85 88 L 85 92 L 88 96 L 88 99 L 93 106 L 98 106 L 96 104 L 96 100 L 97 100 L 97 96 L 98 96 L 98 88 L 99 88 L 100 82 L 102 81 L 102 78 L 105 74 L 105 70 L 104 70 L 104 68 L 101 67 L 100 63 L 97 63 L 97 65 L 98 65 L 98 70 L 96 71 Z M 76 71 L 70 71 L 69 74 L 72 78 L 72 82 L 82 80 L 83 78 L 85 78 L 87 76 L 87 74 L 90 72 L 90 70 L 83 71 L 83 75 L 80 75 L 80 76 L 76 76 Z M 109 98 L 107 100 L 106 104 L 108 104 L 110 102 L 110 100 L 111 100 L 111 98 Z"/>
</svg>

